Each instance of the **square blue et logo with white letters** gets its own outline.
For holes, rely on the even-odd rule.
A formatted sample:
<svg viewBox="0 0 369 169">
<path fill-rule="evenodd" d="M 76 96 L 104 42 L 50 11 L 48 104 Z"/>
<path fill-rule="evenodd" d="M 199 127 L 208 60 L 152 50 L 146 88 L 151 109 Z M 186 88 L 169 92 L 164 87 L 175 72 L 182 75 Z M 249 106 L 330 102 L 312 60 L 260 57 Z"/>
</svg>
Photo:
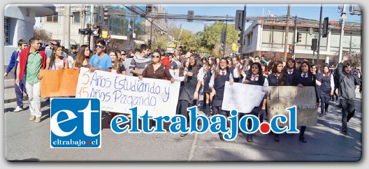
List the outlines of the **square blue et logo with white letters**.
<svg viewBox="0 0 369 169">
<path fill-rule="evenodd" d="M 98 98 L 53 98 L 50 102 L 51 148 L 100 148 Z"/>
</svg>

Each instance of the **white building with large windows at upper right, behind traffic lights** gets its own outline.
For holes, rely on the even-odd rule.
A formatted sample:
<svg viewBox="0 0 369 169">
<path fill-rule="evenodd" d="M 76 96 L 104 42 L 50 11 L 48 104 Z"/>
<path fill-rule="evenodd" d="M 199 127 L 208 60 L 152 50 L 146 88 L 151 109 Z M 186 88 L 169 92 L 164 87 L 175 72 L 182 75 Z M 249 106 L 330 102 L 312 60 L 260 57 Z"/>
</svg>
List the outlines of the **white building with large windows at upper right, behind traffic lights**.
<svg viewBox="0 0 369 169">
<path fill-rule="evenodd" d="M 332 57 L 338 54 L 340 47 L 340 24 L 335 21 L 329 21 L 328 36 L 321 38 L 319 61 L 320 63 L 329 63 Z M 294 45 L 294 19 L 289 22 L 289 38 L 288 45 Z M 301 42 L 296 43 L 295 58 L 296 60 L 307 59 L 312 61 L 313 51 L 311 50 L 312 38 L 318 38 L 319 21 L 305 20 L 298 18 L 297 31 L 301 33 Z M 260 56 L 264 53 L 284 53 L 284 34 L 286 24 L 283 20 L 276 18 L 262 17 L 258 21 L 253 22 L 245 30 L 245 38 L 243 41 L 244 56 Z M 349 52 L 362 53 L 361 43 L 361 24 L 345 23 L 345 35 L 343 37 L 343 50 Z M 287 58 L 291 54 L 287 54 Z M 317 59 L 317 52 L 314 52 L 314 61 Z"/>
</svg>

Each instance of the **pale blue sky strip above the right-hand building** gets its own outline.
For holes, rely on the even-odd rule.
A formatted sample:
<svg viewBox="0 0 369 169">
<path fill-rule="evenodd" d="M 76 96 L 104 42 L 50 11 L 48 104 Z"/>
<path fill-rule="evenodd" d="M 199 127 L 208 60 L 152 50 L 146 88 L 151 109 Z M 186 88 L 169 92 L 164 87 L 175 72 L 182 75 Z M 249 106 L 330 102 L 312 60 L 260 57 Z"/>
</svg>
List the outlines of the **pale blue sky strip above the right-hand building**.
<svg viewBox="0 0 369 169">
<path fill-rule="evenodd" d="M 162 5 L 168 14 L 178 14 L 178 15 L 187 15 L 188 10 L 194 10 L 194 15 L 208 15 L 208 16 L 235 16 L 236 10 L 243 10 L 243 4 L 205 4 L 205 5 Z M 340 20 L 340 13 L 338 12 L 338 4 L 323 4 L 322 10 L 322 20 L 324 17 L 329 17 L 329 20 Z M 303 17 L 306 19 L 312 20 L 319 20 L 320 17 L 320 4 L 291 4 L 291 17 Z M 264 11 L 264 13 L 263 13 Z M 278 5 L 268 5 L 268 4 L 261 4 L 261 5 L 247 5 L 246 7 L 246 17 L 262 17 L 267 16 L 269 13 L 277 16 L 287 15 L 287 4 L 278 4 Z M 349 5 L 346 6 L 346 13 L 347 19 L 346 22 L 361 22 L 361 16 L 359 15 L 349 15 Z M 203 22 L 203 21 L 196 21 L 187 22 L 185 20 L 169 20 L 168 24 L 174 23 L 177 27 L 182 27 L 184 29 L 188 29 L 193 33 L 197 31 L 202 31 L 204 24 L 212 24 L 213 22 Z M 231 24 L 234 24 L 231 23 Z"/>
</svg>

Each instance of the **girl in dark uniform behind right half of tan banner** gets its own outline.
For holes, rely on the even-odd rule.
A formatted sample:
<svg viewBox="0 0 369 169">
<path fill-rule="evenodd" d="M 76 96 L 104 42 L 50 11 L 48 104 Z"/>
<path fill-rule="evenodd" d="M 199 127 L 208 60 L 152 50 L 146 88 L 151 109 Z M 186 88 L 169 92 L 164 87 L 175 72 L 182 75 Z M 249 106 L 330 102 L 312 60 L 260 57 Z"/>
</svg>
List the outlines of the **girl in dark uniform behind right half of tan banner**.
<svg viewBox="0 0 369 169">
<path fill-rule="evenodd" d="M 288 63 L 288 62 L 287 62 Z M 300 70 L 293 78 L 293 85 L 297 87 L 315 87 L 316 86 L 316 77 L 310 71 L 310 65 L 307 61 L 303 61 L 300 66 Z M 316 94 L 316 93 L 315 93 Z M 319 97 L 316 95 L 317 105 L 319 105 Z M 298 140 L 301 142 L 306 142 L 304 137 L 304 133 L 306 130 L 306 126 L 301 126 L 300 136 Z"/>
</svg>

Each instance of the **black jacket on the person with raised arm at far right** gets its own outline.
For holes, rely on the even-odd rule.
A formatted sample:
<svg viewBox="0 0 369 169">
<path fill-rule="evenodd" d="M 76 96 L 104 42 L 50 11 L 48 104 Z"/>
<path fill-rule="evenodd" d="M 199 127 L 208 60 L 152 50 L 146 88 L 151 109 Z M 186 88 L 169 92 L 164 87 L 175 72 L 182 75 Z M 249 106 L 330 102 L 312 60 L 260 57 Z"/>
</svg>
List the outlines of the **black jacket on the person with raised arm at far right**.
<svg viewBox="0 0 369 169">
<path fill-rule="evenodd" d="M 359 85 L 361 80 L 351 73 L 347 74 L 342 69 L 343 64 L 340 63 L 337 66 L 337 70 L 335 70 L 338 75 L 338 82 L 340 82 L 340 88 L 338 88 L 339 94 L 345 99 L 355 98 L 356 85 Z"/>
</svg>

